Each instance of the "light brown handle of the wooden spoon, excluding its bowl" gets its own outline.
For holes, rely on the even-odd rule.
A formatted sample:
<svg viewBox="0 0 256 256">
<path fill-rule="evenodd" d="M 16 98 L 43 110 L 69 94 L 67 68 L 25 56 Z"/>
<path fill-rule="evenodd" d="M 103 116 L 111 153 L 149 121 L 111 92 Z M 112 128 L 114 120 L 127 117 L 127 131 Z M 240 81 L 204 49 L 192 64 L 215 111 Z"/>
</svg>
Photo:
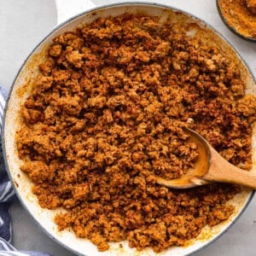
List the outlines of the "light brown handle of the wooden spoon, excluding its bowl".
<svg viewBox="0 0 256 256">
<path fill-rule="evenodd" d="M 256 173 L 247 172 L 231 165 L 218 152 L 210 146 L 212 163 L 203 179 L 213 182 L 236 183 L 256 189 Z"/>
</svg>

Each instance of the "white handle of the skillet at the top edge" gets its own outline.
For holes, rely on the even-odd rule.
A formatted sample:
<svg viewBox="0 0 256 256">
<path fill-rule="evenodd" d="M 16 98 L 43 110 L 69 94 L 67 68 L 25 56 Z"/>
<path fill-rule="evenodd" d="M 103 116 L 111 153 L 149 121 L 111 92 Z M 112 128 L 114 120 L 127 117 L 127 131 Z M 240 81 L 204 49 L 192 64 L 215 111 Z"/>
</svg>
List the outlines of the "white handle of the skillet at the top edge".
<svg viewBox="0 0 256 256">
<path fill-rule="evenodd" d="M 71 18 L 73 15 L 96 7 L 95 3 L 90 0 L 55 0 L 57 9 L 57 24 L 60 25 L 63 21 Z"/>
</svg>

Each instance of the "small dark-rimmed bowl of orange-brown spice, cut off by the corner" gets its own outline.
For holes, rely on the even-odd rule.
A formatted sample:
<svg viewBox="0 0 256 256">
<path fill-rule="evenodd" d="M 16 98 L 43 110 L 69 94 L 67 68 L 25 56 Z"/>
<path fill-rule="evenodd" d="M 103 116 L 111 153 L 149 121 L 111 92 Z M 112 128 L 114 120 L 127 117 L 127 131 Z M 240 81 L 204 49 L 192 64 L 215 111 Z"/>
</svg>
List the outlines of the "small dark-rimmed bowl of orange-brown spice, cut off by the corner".
<svg viewBox="0 0 256 256">
<path fill-rule="evenodd" d="M 224 24 L 241 38 L 256 42 L 256 0 L 217 0 Z"/>
</svg>

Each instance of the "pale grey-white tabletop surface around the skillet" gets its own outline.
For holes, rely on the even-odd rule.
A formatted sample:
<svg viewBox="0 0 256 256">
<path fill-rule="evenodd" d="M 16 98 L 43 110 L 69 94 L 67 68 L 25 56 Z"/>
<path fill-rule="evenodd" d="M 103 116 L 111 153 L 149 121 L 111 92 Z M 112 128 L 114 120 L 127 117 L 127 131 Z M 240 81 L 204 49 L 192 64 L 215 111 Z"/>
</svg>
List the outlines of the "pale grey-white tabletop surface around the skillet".
<svg viewBox="0 0 256 256">
<path fill-rule="evenodd" d="M 92 2 L 96 5 L 102 5 L 121 1 L 92 0 Z M 209 22 L 236 46 L 254 75 L 256 74 L 256 44 L 237 38 L 224 26 L 218 18 L 214 0 L 162 0 L 154 2 L 182 8 Z M 0 0 L 0 84 L 3 84 L 7 89 L 10 88 L 26 55 L 50 32 L 51 28 L 56 25 L 56 20 L 53 0 Z M 255 200 L 254 198 L 241 218 L 224 236 L 195 255 L 255 255 Z M 44 251 L 55 256 L 73 255 L 49 239 L 32 221 L 32 218 L 20 206 L 19 202 L 11 207 L 11 216 L 14 230 L 13 243 L 18 249 Z"/>
</svg>

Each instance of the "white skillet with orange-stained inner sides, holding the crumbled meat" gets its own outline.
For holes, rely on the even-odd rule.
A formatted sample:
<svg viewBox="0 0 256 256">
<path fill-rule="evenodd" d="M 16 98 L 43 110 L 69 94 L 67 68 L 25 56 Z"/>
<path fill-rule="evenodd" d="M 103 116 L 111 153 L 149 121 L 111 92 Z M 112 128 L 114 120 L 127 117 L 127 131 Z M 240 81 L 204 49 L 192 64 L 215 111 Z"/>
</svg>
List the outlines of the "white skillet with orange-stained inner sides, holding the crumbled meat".
<svg viewBox="0 0 256 256">
<path fill-rule="evenodd" d="M 84 5 L 85 3 L 85 5 Z M 25 101 L 26 96 L 32 86 L 33 79 L 37 76 L 38 68 L 37 64 L 44 61 L 44 55 L 51 44 L 51 40 L 57 35 L 71 31 L 77 26 L 81 26 L 84 23 L 95 20 L 100 16 L 108 15 L 120 15 L 125 12 L 136 12 L 143 11 L 148 15 L 160 15 L 162 19 L 166 19 L 168 15 L 172 15 L 172 20 L 177 22 L 194 22 L 198 24 L 198 32 L 201 33 L 202 38 L 207 38 L 210 44 L 217 45 L 222 49 L 227 55 L 230 56 L 232 61 L 235 61 L 239 65 L 243 79 L 247 84 L 247 91 L 255 93 L 255 81 L 253 75 L 248 69 L 244 61 L 241 60 L 241 56 L 237 54 L 236 50 L 227 41 L 218 34 L 212 27 L 208 26 L 205 22 L 195 18 L 193 15 L 188 15 L 183 13 L 183 15 L 175 15 L 176 12 L 181 13 L 181 10 L 172 9 L 170 7 L 155 4 L 155 3 L 119 3 L 114 5 L 108 5 L 105 7 L 94 8 L 94 4 L 87 0 L 56 0 L 56 5 L 58 9 L 59 22 L 67 19 L 68 15 L 75 15 L 75 13 L 81 11 L 82 9 L 90 9 L 85 11 L 80 15 L 74 16 L 72 19 L 65 21 L 49 33 L 49 35 L 44 38 L 44 40 L 38 44 L 38 46 L 32 50 L 31 55 L 29 55 L 24 62 L 23 66 L 20 68 L 20 72 L 17 74 L 15 82 L 9 94 L 9 99 L 4 113 L 3 119 L 3 155 L 6 167 L 9 172 L 9 177 L 15 186 L 16 194 L 18 195 L 21 204 L 26 208 L 32 218 L 36 223 L 44 230 L 52 239 L 60 243 L 63 247 L 79 255 L 88 256 L 107 256 L 107 255 L 155 255 L 151 249 L 143 250 L 142 252 L 137 252 L 135 249 L 128 247 L 127 242 L 122 242 L 123 247 L 119 247 L 119 243 L 111 244 L 111 248 L 108 252 L 99 253 L 96 247 L 90 242 L 84 239 L 76 238 L 72 231 L 64 230 L 62 232 L 57 230 L 53 219 L 55 213 L 61 211 L 60 209 L 55 211 L 49 211 L 38 206 L 38 200 L 35 195 L 32 195 L 31 188 L 32 183 L 20 172 L 20 160 L 17 156 L 15 148 L 15 131 L 19 129 L 19 108 L 20 104 Z M 195 33 L 196 31 L 190 31 L 190 33 Z M 254 129 L 254 139 L 255 139 L 255 129 Z M 253 142 L 253 150 L 255 151 L 255 144 Z M 255 152 L 253 151 L 253 160 L 255 163 Z M 253 171 L 255 171 L 255 166 L 253 166 Z M 253 191 L 249 189 L 244 189 L 241 194 L 236 195 L 234 200 L 230 201 L 230 204 L 236 206 L 236 211 L 231 216 L 228 221 L 219 224 L 212 229 L 205 228 L 201 235 L 195 239 L 195 242 L 191 242 L 188 247 L 172 247 L 160 255 L 189 255 L 190 253 L 195 253 L 207 244 L 215 241 L 218 236 L 222 235 L 226 230 L 229 229 L 230 225 L 233 224 L 236 219 L 241 215 L 241 212 L 245 210 L 248 203 L 253 197 Z"/>
</svg>

